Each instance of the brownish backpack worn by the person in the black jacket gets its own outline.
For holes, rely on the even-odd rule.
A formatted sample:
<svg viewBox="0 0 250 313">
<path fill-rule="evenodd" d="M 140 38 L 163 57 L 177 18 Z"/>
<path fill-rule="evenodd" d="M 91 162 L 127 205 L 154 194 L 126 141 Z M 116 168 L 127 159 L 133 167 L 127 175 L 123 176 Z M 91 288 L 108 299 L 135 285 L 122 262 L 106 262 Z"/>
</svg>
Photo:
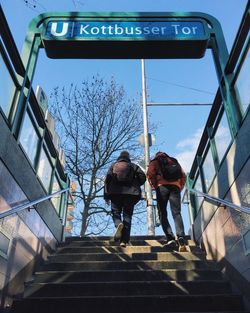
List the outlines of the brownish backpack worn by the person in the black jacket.
<svg viewBox="0 0 250 313">
<path fill-rule="evenodd" d="M 117 161 L 113 165 L 112 176 L 120 185 L 131 185 L 134 180 L 134 168 L 130 162 Z"/>
</svg>

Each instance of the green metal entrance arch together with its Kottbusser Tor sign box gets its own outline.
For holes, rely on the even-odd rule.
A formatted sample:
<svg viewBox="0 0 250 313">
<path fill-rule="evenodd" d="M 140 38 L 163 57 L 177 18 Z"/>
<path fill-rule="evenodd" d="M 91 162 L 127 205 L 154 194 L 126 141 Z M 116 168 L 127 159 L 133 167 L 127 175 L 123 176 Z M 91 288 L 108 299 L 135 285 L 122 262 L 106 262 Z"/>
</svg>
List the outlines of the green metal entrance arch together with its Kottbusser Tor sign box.
<svg viewBox="0 0 250 313">
<path fill-rule="evenodd" d="M 23 123 L 41 48 L 48 57 L 73 59 L 190 59 L 201 58 L 206 49 L 211 49 L 225 112 L 232 133 L 235 135 L 238 131 L 239 116 L 230 93 L 230 78 L 225 74 L 229 54 L 220 23 L 208 14 L 63 12 L 39 15 L 29 25 L 22 51 L 25 75 L 13 122 L 16 136 Z"/>
</svg>

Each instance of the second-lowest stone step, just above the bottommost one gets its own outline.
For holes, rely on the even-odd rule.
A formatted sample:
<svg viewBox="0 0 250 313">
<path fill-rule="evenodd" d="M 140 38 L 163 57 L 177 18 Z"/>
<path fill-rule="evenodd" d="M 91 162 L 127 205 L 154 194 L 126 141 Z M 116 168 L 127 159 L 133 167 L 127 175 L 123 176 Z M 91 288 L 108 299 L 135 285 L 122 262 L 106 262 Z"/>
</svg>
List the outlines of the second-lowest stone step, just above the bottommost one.
<svg viewBox="0 0 250 313">
<path fill-rule="evenodd" d="M 98 278 L 98 277 L 97 277 Z M 25 297 L 135 296 L 135 295 L 209 295 L 229 294 L 227 281 L 110 281 L 78 283 L 34 283 Z"/>
</svg>

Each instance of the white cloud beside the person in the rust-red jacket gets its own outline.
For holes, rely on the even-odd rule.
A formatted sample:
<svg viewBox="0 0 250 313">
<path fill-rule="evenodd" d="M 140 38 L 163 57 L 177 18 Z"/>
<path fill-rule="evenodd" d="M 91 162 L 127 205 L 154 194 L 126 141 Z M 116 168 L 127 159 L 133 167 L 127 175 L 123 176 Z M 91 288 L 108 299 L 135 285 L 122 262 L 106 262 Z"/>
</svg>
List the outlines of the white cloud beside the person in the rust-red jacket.
<svg viewBox="0 0 250 313">
<path fill-rule="evenodd" d="M 177 149 L 181 150 L 176 155 L 176 158 L 180 162 L 185 172 L 189 172 L 191 169 L 202 132 L 203 129 L 199 128 L 191 137 L 181 140 L 176 145 Z"/>
</svg>

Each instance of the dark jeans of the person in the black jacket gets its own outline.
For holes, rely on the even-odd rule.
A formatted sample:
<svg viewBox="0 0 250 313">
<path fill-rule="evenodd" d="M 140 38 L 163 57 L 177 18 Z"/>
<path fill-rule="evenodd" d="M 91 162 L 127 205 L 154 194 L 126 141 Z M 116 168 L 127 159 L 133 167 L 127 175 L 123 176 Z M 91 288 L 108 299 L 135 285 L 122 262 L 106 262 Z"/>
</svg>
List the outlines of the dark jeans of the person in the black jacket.
<svg viewBox="0 0 250 313">
<path fill-rule="evenodd" d="M 131 222 L 134 206 L 138 202 L 138 196 L 113 195 L 111 198 L 112 218 L 117 227 L 123 223 L 121 242 L 128 243 L 130 240 Z"/>
</svg>

